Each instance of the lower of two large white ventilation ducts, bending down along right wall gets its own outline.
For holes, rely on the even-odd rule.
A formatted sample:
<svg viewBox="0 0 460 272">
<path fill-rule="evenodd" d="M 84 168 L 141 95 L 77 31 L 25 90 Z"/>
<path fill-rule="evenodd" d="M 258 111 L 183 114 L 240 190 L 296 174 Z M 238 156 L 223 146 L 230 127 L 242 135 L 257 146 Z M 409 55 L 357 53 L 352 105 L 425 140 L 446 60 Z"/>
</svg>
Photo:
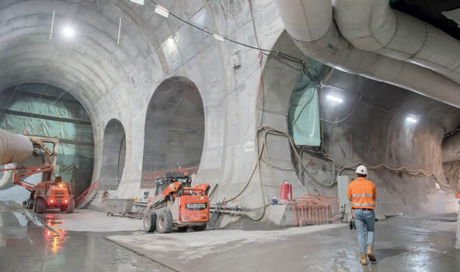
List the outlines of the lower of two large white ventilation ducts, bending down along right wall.
<svg viewBox="0 0 460 272">
<path fill-rule="evenodd" d="M 358 50 L 332 21 L 331 0 L 275 0 L 284 27 L 302 52 L 348 73 L 415 91 L 460 107 L 460 86 L 433 70 Z"/>
</svg>

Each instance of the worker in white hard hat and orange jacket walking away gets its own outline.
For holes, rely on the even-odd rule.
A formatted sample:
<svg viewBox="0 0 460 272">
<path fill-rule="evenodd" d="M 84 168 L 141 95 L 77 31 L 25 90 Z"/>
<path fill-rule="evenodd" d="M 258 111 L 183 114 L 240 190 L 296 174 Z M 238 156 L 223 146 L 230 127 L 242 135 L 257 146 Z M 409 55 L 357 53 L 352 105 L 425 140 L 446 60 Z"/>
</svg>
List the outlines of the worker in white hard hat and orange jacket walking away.
<svg viewBox="0 0 460 272">
<path fill-rule="evenodd" d="M 362 265 L 367 265 L 367 257 L 369 257 L 371 262 L 376 261 L 374 256 L 376 186 L 372 181 L 366 179 L 367 168 L 364 165 L 358 166 L 355 172 L 358 178 L 348 184 L 347 195 L 348 199 L 351 201 L 353 220 L 355 222 L 356 232 L 358 232 L 360 263 Z"/>
</svg>

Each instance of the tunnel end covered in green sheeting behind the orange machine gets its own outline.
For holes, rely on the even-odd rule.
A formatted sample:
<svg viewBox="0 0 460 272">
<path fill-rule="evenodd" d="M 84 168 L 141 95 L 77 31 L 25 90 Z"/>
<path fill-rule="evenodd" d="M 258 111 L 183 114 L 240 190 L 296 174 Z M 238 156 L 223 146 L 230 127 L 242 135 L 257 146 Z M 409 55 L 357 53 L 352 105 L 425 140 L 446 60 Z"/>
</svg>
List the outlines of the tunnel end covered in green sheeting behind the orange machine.
<svg viewBox="0 0 460 272">
<path fill-rule="evenodd" d="M 45 84 L 21 84 L 1 91 L 0 128 L 59 139 L 56 175 L 72 183 L 79 195 L 93 174 L 93 128 L 84 107 L 63 92 Z"/>
</svg>

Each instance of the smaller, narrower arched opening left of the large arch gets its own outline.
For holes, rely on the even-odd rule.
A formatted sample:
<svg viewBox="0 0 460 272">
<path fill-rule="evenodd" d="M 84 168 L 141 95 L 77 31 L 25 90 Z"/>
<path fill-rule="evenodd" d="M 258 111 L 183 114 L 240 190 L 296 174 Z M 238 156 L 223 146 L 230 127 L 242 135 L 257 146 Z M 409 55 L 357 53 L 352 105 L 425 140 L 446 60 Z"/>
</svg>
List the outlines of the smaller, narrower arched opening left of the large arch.
<svg viewBox="0 0 460 272">
<path fill-rule="evenodd" d="M 102 164 L 100 169 L 101 190 L 116 190 L 125 167 L 126 137 L 120 121 L 112 119 L 104 130 Z"/>
</svg>

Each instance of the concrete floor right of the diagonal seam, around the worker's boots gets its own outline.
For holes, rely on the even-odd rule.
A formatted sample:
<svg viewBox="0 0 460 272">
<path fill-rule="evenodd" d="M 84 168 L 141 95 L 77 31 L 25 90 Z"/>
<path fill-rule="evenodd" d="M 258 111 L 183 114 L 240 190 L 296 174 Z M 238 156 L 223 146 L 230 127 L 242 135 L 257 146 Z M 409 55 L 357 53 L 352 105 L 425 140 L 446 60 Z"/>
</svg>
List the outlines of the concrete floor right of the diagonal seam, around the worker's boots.
<svg viewBox="0 0 460 272">
<path fill-rule="evenodd" d="M 378 222 L 377 262 L 364 268 L 358 263 L 356 232 L 344 225 L 107 239 L 178 271 L 459 271 L 456 227 L 443 218 Z"/>
</svg>

